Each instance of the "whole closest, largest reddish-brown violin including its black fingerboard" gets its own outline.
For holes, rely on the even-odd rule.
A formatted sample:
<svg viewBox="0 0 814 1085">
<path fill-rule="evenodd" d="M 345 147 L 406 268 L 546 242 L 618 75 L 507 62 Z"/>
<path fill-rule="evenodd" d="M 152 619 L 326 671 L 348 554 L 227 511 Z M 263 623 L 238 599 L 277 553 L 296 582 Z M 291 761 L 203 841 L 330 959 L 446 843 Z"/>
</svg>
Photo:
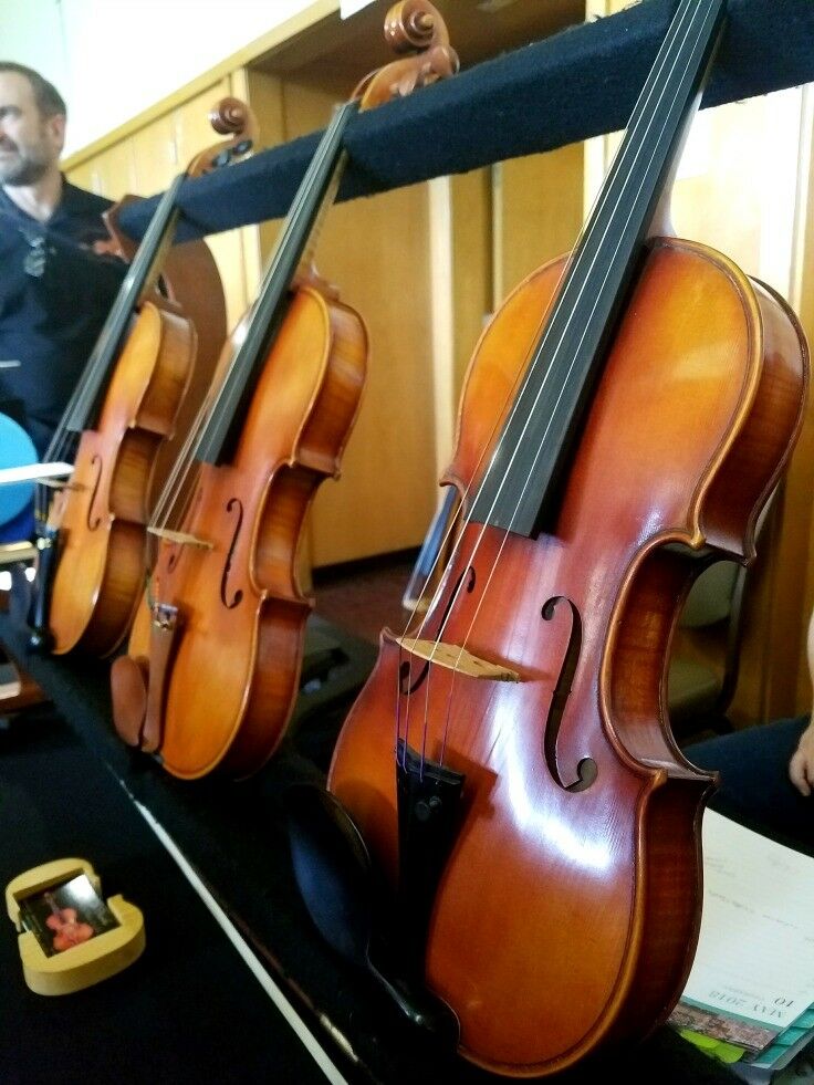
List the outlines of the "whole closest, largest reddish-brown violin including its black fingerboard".
<svg viewBox="0 0 814 1085">
<path fill-rule="evenodd" d="M 388 887 L 348 931 L 365 909 L 303 879 L 323 933 L 501 1075 L 645 1037 L 697 943 L 714 778 L 670 731 L 670 641 L 699 566 L 753 559 L 808 386 L 784 301 L 654 232 L 724 8 L 678 4 L 575 250 L 479 341 L 451 556 L 383 632 L 320 799 L 337 900 Z"/>
</svg>

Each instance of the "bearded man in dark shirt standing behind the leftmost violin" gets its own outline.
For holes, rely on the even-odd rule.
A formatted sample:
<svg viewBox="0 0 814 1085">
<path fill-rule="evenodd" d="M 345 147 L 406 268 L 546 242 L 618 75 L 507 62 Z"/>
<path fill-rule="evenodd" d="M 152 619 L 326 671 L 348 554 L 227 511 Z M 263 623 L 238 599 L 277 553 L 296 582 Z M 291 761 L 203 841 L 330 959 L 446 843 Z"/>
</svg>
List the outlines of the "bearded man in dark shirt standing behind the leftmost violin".
<svg viewBox="0 0 814 1085">
<path fill-rule="evenodd" d="M 0 411 L 40 458 L 126 272 L 94 250 L 111 201 L 60 170 L 65 118 L 51 83 L 0 61 Z"/>
</svg>

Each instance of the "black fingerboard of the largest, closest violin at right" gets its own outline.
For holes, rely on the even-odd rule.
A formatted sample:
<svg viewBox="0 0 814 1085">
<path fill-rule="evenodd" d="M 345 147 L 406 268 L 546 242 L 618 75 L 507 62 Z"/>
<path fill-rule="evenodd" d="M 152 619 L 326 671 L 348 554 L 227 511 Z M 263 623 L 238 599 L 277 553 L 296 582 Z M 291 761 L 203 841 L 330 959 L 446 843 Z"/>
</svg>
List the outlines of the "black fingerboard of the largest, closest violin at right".
<svg viewBox="0 0 814 1085">
<path fill-rule="evenodd" d="M 531 538 L 564 479 L 665 180 L 692 118 L 726 0 L 681 0 L 583 231 L 471 517 Z"/>
</svg>

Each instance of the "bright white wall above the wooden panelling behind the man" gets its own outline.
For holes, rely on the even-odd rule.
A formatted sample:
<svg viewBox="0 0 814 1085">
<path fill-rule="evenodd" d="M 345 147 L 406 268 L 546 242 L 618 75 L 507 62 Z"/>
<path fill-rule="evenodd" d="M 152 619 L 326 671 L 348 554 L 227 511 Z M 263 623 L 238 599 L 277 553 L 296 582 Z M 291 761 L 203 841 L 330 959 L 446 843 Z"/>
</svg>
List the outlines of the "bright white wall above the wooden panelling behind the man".
<svg viewBox="0 0 814 1085">
<path fill-rule="evenodd" d="M 115 0 L 115 15 L 101 15 L 111 8 L 98 0 L 0 0 L 1 52 L 41 71 L 63 94 L 70 155 L 310 4 Z"/>
</svg>

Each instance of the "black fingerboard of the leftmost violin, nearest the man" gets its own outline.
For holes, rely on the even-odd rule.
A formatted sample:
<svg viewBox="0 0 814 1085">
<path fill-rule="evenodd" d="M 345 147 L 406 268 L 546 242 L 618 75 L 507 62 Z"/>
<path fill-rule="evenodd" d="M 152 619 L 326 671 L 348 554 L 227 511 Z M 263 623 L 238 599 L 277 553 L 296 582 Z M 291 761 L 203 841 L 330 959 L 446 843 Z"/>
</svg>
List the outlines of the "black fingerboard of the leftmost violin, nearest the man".
<svg viewBox="0 0 814 1085">
<path fill-rule="evenodd" d="M 96 420 L 131 321 L 138 305 L 155 286 L 165 252 L 173 242 L 178 219 L 178 189 L 185 177 L 186 174 L 179 174 L 175 178 L 150 219 L 147 232 L 87 359 L 77 393 L 69 404 L 54 442 L 62 438 L 64 430 L 81 434 L 92 428 Z"/>
</svg>

